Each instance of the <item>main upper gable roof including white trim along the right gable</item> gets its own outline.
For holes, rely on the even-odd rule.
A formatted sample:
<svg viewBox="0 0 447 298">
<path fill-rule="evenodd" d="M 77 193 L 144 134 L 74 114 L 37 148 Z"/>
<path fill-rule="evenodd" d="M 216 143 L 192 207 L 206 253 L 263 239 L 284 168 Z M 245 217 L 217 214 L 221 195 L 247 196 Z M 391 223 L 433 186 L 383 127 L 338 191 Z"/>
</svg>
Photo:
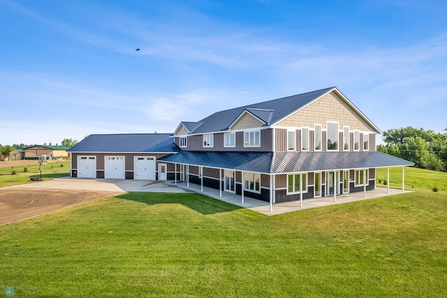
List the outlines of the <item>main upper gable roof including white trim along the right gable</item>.
<svg viewBox="0 0 447 298">
<path fill-rule="evenodd" d="M 208 132 L 224 132 L 233 125 L 235 120 L 242 115 L 242 113 L 251 113 L 256 118 L 262 120 L 265 125 L 270 126 L 283 120 L 292 113 L 312 104 L 320 97 L 329 92 L 335 91 L 346 101 L 346 104 L 351 106 L 356 113 L 358 113 L 369 125 L 374 127 L 377 132 L 381 132 L 354 104 L 347 99 L 337 87 L 328 87 L 321 90 L 306 92 L 302 94 L 293 95 L 291 97 L 282 97 L 280 99 L 273 99 L 270 101 L 263 101 L 257 104 L 249 104 L 247 106 L 240 106 L 239 108 L 231 108 L 225 111 L 219 111 L 207 118 L 200 120 L 201 125 L 196 127 L 190 134 L 204 134 Z"/>
</svg>

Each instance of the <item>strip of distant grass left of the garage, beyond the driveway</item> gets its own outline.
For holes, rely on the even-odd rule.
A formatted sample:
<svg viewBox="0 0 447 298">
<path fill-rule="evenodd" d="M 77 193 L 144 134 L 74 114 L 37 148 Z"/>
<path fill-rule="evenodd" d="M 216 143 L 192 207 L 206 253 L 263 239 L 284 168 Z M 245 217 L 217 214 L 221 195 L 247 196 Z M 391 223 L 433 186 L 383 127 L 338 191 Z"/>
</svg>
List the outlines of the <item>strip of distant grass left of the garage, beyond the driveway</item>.
<svg viewBox="0 0 447 298">
<path fill-rule="evenodd" d="M 62 166 L 61 166 L 62 165 Z M 28 171 L 24 172 L 24 168 Z M 15 171 L 15 175 L 11 172 Z M 70 162 L 48 162 L 42 164 L 42 180 L 52 180 L 54 178 L 69 176 Z M 0 187 L 19 185 L 25 183 L 35 183 L 30 178 L 41 176 L 40 165 L 36 160 L 30 160 L 29 165 L 6 166 L 0 168 Z"/>
</svg>

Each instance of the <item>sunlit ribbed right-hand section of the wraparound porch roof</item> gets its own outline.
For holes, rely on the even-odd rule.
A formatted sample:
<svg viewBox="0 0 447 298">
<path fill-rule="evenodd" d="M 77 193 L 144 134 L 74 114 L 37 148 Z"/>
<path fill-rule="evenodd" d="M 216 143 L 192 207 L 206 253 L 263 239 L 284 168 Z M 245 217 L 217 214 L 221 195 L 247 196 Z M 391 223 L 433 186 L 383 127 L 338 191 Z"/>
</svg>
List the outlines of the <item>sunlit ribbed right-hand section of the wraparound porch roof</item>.
<svg viewBox="0 0 447 298">
<path fill-rule="evenodd" d="M 413 166 L 382 152 L 275 152 L 272 173 Z"/>
</svg>

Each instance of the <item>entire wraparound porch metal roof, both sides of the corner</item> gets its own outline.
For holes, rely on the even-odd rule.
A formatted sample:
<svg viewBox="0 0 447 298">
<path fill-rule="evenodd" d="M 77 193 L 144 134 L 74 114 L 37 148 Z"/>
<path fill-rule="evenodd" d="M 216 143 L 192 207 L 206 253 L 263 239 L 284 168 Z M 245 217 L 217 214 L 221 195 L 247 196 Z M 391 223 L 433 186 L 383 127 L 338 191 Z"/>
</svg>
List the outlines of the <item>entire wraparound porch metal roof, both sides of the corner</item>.
<svg viewBox="0 0 447 298">
<path fill-rule="evenodd" d="M 182 151 L 165 162 L 257 173 L 297 173 L 342 169 L 412 166 L 382 152 L 203 152 Z"/>
</svg>

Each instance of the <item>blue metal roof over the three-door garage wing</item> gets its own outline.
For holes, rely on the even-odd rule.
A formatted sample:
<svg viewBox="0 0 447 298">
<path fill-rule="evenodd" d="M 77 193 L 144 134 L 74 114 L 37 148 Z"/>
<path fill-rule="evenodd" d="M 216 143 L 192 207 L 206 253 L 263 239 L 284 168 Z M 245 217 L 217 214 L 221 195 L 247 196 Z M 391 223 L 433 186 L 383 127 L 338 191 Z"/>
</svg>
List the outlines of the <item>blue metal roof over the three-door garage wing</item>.
<svg viewBox="0 0 447 298">
<path fill-rule="evenodd" d="M 178 152 L 172 134 L 91 134 L 68 152 Z"/>
</svg>

